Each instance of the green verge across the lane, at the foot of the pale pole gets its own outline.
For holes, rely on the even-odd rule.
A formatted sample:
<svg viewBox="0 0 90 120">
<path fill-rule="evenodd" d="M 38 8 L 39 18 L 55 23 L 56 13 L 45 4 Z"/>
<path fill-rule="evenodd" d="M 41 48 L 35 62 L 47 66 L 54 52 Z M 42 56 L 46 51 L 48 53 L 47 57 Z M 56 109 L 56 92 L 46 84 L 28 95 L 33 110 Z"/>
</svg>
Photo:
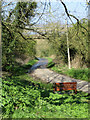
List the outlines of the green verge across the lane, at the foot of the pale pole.
<svg viewBox="0 0 90 120">
<path fill-rule="evenodd" d="M 72 78 L 85 80 L 85 81 L 90 82 L 90 80 L 89 80 L 90 70 L 88 68 L 85 68 L 85 69 L 74 69 L 74 68 L 68 69 L 65 66 L 63 66 L 63 67 L 54 66 L 51 69 L 58 72 L 58 73 L 68 75 Z"/>
</svg>

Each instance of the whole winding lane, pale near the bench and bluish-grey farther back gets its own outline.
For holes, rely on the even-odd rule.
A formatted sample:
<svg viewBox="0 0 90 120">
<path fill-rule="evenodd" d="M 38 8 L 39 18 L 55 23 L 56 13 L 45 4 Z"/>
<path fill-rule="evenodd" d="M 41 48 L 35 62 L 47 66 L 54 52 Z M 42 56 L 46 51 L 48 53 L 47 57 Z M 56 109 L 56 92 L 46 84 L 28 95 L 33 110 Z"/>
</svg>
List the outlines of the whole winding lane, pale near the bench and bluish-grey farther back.
<svg viewBox="0 0 90 120">
<path fill-rule="evenodd" d="M 66 75 L 61 75 L 50 69 L 45 68 L 48 64 L 48 60 L 45 58 L 38 58 L 38 62 L 34 64 L 31 69 L 28 71 L 29 75 L 41 79 L 47 83 L 59 83 L 59 82 L 77 82 L 77 90 L 90 93 L 89 85 L 90 82 L 83 80 L 77 80 Z"/>
</svg>

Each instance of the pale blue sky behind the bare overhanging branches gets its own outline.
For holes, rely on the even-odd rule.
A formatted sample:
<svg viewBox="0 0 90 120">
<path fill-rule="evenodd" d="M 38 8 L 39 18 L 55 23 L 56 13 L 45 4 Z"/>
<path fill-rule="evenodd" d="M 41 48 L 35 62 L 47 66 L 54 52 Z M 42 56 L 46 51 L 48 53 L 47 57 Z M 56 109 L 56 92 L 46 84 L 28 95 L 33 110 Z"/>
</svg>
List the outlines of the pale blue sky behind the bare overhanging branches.
<svg viewBox="0 0 90 120">
<path fill-rule="evenodd" d="M 4 0 L 7 2 L 7 0 Z M 8 0 L 8 2 L 16 2 L 16 1 L 30 1 L 30 0 Z M 38 24 L 46 24 L 45 22 L 57 22 L 60 21 L 62 24 L 65 23 L 66 14 L 63 5 L 60 3 L 60 0 L 35 0 L 38 2 L 38 6 L 40 6 L 41 2 L 47 3 L 50 2 L 50 6 L 47 6 L 45 10 L 45 14 L 42 16 L 42 19 L 38 22 Z M 82 18 L 87 18 L 88 16 L 88 7 L 86 4 L 86 0 L 62 0 L 68 9 L 68 12 L 70 14 L 75 15 L 79 20 Z M 87 0 L 89 1 L 89 0 Z M 37 12 L 42 13 L 43 12 L 44 5 L 40 7 L 40 9 L 37 9 Z M 36 18 L 32 19 L 33 21 L 37 21 L 38 16 Z M 75 23 L 76 20 L 73 19 L 73 22 Z M 69 24 L 71 23 L 68 20 Z"/>
</svg>

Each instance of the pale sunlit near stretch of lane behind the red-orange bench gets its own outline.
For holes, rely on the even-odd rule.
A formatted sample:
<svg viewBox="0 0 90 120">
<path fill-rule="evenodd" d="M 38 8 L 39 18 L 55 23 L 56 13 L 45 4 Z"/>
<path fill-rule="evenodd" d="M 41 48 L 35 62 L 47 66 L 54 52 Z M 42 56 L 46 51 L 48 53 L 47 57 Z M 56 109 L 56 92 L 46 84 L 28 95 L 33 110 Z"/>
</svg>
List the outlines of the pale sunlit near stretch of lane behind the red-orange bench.
<svg viewBox="0 0 90 120">
<path fill-rule="evenodd" d="M 77 82 L 77 90 L 90 93 L 88 90 L 88 86 L 90 85 L 90 82 L 77 80 L 65 75 L 58 74 L 52 70 L 49 70 L 47 68 L 38 68 L 35 69 L 32 73 L 30 73 L 31 76 L 37 77 L 41 79 L 42 81 L 46 81 L 49 83 L 54 82 Z"/>
</svg>

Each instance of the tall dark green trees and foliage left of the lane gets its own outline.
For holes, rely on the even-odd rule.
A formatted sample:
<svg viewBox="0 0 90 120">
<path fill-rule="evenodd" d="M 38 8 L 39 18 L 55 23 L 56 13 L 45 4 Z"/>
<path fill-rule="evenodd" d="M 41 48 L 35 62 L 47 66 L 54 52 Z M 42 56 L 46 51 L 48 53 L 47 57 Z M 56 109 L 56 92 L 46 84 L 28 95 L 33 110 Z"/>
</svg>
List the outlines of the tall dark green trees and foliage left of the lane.
<svg viewBox="0 0 90 120">
<path fill-rule="evenodd" d="M 35 17 L 36 2 L 17 2 L 15 8 L 2 15 L 2 65 L 3 70 L 11 72 L 16 58 L 34 56 L 36 41 L 31 36 L 24 35 L 26 27 Z M 5 8 L 3 8 L 5 11 Z"/>
</svg>

